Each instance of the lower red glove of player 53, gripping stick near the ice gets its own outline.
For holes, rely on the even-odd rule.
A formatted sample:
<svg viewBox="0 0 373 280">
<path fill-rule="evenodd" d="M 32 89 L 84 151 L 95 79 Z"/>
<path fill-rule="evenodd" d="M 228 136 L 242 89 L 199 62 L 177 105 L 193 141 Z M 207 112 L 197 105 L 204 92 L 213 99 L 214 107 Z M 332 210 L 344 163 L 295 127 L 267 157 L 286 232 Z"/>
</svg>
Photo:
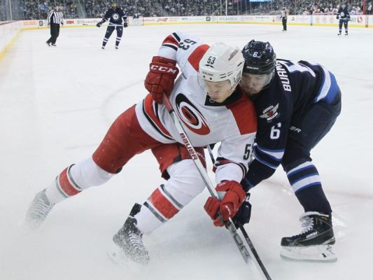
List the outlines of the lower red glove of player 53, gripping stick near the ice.
<svg viewBox="0 0 373 280">
<path fill-rule="evenodd" d="M 213 219 L 213 224 L 223 226 L 224 221 L 236 215 L 239 207 L 246 198 L 246 193 L 240 183 L 236 181 L 223 181 L 216 186 L 220 201 L 216 197 L 209 197 L 204 204 L 204 210 Z M 218 217 L 218 214 L 221 217 Z M 223 221 L 222 221 L 223 218 Z"/>
</svg>

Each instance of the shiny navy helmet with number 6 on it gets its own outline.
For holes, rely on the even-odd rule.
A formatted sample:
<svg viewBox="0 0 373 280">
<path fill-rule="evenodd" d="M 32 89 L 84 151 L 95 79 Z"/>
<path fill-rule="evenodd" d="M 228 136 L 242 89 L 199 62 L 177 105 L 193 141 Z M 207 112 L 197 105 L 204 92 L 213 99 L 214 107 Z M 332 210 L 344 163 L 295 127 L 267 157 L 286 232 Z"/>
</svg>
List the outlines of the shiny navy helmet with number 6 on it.
<svg viewBox="0 0 373 280">
<path fill-rule="evenodd" d="M 251 40 L 242 50 L 244 73 L 262 75 L 272 73 L 276 64 L 276 54 L 269 42 Z"/>
</svg>

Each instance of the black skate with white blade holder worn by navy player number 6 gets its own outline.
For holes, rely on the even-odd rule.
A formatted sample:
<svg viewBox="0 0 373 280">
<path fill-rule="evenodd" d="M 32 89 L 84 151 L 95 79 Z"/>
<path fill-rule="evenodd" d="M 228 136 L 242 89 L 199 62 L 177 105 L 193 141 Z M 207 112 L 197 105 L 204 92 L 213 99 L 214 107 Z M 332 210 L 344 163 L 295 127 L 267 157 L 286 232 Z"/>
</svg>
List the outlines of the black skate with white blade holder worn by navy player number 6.
<svg viewBox="0 0 373 280">
<path fill-rule="evenodd" d="M 335 262 L 332 252 L 335 236 L 332 217 L 318 212 L 306 212 L 300 216 L 303 230 L 299 235 L 281 239 L 282 258 L 316 262 Z"/>
</svg>

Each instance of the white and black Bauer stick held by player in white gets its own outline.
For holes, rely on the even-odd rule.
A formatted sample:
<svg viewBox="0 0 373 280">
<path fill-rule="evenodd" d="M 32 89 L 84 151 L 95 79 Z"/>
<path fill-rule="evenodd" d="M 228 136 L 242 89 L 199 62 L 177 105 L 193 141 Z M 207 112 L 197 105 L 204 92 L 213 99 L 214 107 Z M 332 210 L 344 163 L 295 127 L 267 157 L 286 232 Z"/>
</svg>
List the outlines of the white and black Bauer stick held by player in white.
<svg viewBox="0 0 373 280">
<path fill-rule="evenodd" d="M 190 156 L 192 157 L 193 162 L 195 163 L 195 166 L 198 169 L 199 174 L 201 174 L 202 179 L 209 190 L 209 193 L 212 197 L 218 197 L 216 193 L 214 193 L 213 183 L 211 182 L 209 175 L 207 175 L 206 170 L 204 169 L 204 166 L 202 165 L 201 160 L 199 160 L 197 152 L 195 151 L 195 148 L 193 148 L 192 144 L 190 143 L 190 139 L 188 135 L 186 134 L 183 125 L 181 125 L 181 120 L 176 115 L 174 109 L 172 108 L 171 103 L 169 102 L 169 98 L 166 94 L 163 94 L 163 104 L 166 106 L 167 111 L 169 112 L 169 115 L 171 116 L 172 120 L 174 121 L 174 124 L 176 126 L 176 129 L 178 130 L 178 133 L 183 140 L 183 144 L 185 148 L 187 148 Z M 241 237 L 237 233 L 236 228 L 233 225 L 233 222 L 231 219 L 229 219 L 225 223 L 225 228 L 230 231 L 230 234 L 232 235 L 232 238 L 234 240 L 234 243 L 237 245 L 237 248 L 239 248 L 239 252 L 242 255 L 242 258 L 244 258 L 244 261 L 248 263 L 250 254 L 248 252 L 248 249 L 246 248 L 244 242 L 242 241 Z"/>
</svg>

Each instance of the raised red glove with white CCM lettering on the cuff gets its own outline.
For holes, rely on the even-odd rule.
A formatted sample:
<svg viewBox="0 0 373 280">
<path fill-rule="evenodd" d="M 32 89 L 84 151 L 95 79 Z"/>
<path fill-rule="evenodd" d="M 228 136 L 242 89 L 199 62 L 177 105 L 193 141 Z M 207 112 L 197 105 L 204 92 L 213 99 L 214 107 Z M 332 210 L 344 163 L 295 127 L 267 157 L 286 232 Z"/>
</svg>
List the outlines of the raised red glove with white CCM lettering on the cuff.
<svg viewBox="0 0 373 280">
<path fill-rule="evenodd" d="M 165 57 L 153 57 L 150 70 L 145 78 L 145 88 L 158 104 L 162 104 L 163 93 L 171 94 L 178 76 L 176 61 Z"/>
</svg>

